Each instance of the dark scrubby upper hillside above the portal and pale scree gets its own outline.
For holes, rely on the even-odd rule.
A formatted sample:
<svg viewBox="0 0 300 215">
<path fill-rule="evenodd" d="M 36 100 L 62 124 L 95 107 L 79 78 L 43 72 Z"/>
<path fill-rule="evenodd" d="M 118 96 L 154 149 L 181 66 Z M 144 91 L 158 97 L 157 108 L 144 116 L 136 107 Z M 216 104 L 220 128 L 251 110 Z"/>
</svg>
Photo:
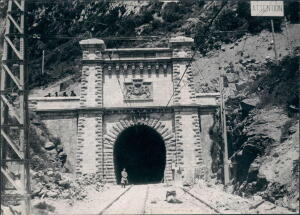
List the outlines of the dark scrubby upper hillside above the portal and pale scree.
<svg viewBox="0 0 300 215">
<path fill-rule="evenodd" d="M 0 24 L 3 23 L 7 2 L 1 0 Z M 286 15 L 291 22 L 297 20 L 297 4 L 297 1 L 286 3 Z M 274 21 L 276 31 L 280 31 L 282 19 Z M 84 38 L 100 37 L 109 47 L 128 47 L 162 46 L 166 45 L 169 36 L 186 35 L 194 37 L 195 48 L 206 54 L 211 49 L 220 49 L 223 42 L 235 41 L 246 32 L 255 34 L 270 28 L 268 19 L 250 16 L 247 1 L 29 1 L 28 22 L 31 87 L 44 86 L 62 77 L 78 74 L 78 41 Z M 227 34 L 219 31 L 239 32 Z M 112 36 L 149 35 L 160 39 L 135 42 L 110 39 Z M 46 72 L 42 75 L 43 50 Z"/>
</svg>

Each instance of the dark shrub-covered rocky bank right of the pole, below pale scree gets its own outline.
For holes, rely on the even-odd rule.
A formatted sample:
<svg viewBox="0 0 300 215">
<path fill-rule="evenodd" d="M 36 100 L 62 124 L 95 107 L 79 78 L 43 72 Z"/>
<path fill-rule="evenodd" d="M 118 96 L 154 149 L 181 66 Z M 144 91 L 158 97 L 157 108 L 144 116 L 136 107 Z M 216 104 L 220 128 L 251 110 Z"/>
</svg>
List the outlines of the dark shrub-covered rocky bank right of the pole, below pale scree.
<svg viewBox="0 0 300 215">
<path fill-rule="evenodd" d="M 235 192 L 241 195 L 256 193 L 293 210 L 299 210 L 296 204 L 299 193 L 295 192 L 299 189 L 299 169 L 293 167 L 299 163 L 299 146 L 295 139 L 299 135 L 296 134 L 298 67 L 297 57 L 287 56 L 279 65 L 268 62 L 266 70 L 243 93 L 227 100 Z M 284 152 L 278 150 L 280 147 Z M 289 158 L 284 160 L 286 154 Z M 291 168 L 277 170 L 278 164 L 274 166 L 272 156 L 281 158 L 278 162 Z M 268 169 L 266 163 L 270 165 Z M 273 171 L 276 176 L 272 176 Z M 273 177 L 278 179 L 273 181 Z"/>
</svg>

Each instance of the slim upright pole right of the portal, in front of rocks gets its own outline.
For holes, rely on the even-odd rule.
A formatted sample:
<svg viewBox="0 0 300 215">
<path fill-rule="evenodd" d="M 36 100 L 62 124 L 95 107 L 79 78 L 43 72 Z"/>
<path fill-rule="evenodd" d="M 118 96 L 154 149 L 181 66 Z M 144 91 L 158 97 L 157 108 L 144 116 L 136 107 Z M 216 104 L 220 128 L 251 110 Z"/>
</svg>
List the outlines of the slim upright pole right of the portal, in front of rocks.
<svg viewBox="0 0 300 215">
<path fill-rule="evenodd" d="M 224 185 L 229 184 L 230 180 L 230 171 L 229 171 L 229 162 L 228 162 L 228 142 L 227 142 L 227 127 L 226 127 L 226 108 L 224 102 L 224 75 L 222 74 L 221 69 L 219 76 L 219 90 L 221 97 L 221 124 L 222 124 L 222 136 L 224 143 L 224 151 L 223 151 L 223 165 L 224 165 Z"/>
</svg>

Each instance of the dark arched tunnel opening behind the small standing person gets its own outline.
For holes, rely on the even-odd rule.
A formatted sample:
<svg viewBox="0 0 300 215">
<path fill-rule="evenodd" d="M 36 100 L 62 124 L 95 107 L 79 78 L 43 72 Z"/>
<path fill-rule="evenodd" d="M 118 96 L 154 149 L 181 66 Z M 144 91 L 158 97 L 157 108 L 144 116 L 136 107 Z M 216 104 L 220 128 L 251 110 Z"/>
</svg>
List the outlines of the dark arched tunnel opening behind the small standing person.
<svg viewBox="0 0 300 215">
<path fill-rule="evenodd" d="M 117 183 L 126 168 L 129 184 L 159 183 L 164 177 L 166 148 L 161 135 L 146 125 L 122 131 L 114 145 Z"/>
</svg>

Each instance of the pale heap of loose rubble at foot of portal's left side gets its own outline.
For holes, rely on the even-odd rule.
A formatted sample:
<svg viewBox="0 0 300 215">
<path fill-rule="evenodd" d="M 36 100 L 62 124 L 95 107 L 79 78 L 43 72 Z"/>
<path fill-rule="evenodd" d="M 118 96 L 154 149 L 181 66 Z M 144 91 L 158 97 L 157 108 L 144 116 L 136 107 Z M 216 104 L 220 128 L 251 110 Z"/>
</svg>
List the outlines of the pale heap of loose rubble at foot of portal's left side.
<svg viewBox="0 0 300 215">
<path fill-rule="evenodd" d="M 48 168 L 33 174 L 32 198 L 83 200 L 87 196 L 88 186 L 101 191 L 104 186 L 101 176 L 86 174 L 72 179 L 68 173 Z"/>
</svg>

